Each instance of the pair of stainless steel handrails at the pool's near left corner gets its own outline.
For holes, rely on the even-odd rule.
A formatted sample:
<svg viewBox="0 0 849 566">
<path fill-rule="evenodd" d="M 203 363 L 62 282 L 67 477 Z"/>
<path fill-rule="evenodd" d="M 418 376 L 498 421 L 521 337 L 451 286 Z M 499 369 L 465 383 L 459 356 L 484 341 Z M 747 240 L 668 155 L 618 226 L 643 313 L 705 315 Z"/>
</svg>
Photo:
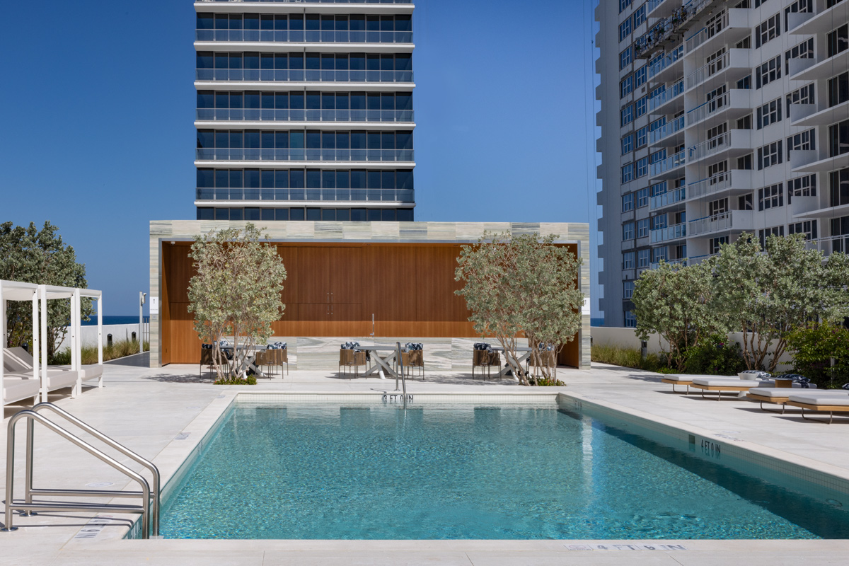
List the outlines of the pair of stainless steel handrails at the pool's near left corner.
<svg viewBox="0 0 849 566">
<path fill-rule="evenodd" d="M 121 462 L 110 457 L 103 451 L 98 450 L 85 440 L 82 440 L 76 434 L 63 429 L 52 420 L 40 414 L 43 410 L 48 409 L 55 412 L 60 417 L 65 417 L 69 423 L 75 424 L 79 429 L 91 434 L 97 440 L 103 442 L 106 446 L 121 452 L 126 457 L 141 464 L 144 468 L 148 468 L 153 475 L 153 488 L 151 489 L 148 480 L 142 474 L 127 468 Z M 25 491 L 24 501 L 14 501 L 14 428 L 15 425 L 22 419 L 26 420 L 26 472 L 25 472 Z M 32 487 L 32 455 L 34 448 L 33 433 L 35 423 L 42 423 L 46 428 L 59 434 L 65 440 L 79 446 L 84 451 L 87 451 L 94 457 L 97 457 L 102 462 L 109 464 L 129 479 L 135 480 L 139 487 L 138 491 L 119 491 L 119 490 L 49 490 L 35 489 Z M 50 496 L 50 497 L 128 497 L 141 498 L 139 505 L 121 505 L 113 503 L 90 503 L 90 502 L 33 502 L 32 496 Z M 98 429 L 94 429 L 87 423 L 83 423 L 80 419 L 74 417 L 59 406 L 53 403 L 39 403 L 31 409 L 25 409 L 16 412 L 8 421 L 7 441 L 6 441 L 6 517 L 3 525 L 3 531 L 17 530 L 17 527 L 12 525 L 14 510 L 20 510 L 21 515 L 33 515 L 36 511 L 111 511 L 115 513 L 139 513 L 142 516 L 142 538 L 148 539 L 152 535 L 159 538 L 159 512 L 160 512 L 160 473 L 159 469 L 143 457 L 129 450 L 106 436 Z"/>
</svg>

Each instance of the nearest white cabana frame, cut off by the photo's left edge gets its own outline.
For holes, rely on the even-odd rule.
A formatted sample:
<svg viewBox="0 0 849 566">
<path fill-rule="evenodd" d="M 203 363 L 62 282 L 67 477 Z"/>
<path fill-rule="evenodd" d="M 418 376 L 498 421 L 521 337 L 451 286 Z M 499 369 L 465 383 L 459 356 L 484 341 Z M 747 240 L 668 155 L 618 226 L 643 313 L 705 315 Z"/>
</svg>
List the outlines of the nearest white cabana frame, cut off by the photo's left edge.
<svg viewBox="0 0 849 566">
<path fill-rule="evenodd" d="M 31 301 L 32 303 L 32 344 L 31 350 L 37 352 L 41 343 L 39 337 L 39 321 L 38 321 L 38 291 L 39 287 L 33 283 L 21 283 L 18 281 L 3 281 L 0 280 L 0 337 L 3 339 L 3 344 L 0 345 L 0 397 L 2 397 L 3 406 L 15 401 L 23 401 L 24 399 L 33 398 L 33 404 L 38 401 L 38 397 L 42 390 L 41 380 L 39 379 L 39 361 L 38 356 L 33 356 L 32 364 L 32 379 L 23 373 L 6 373 L 5 363 L 5 348 L 6 340 L 8 339 L 8 301 Z M 8 375 L 8 377 L 7 377 Z M 29 382 L 32 383 L 29 383 Z"/>
</svg>

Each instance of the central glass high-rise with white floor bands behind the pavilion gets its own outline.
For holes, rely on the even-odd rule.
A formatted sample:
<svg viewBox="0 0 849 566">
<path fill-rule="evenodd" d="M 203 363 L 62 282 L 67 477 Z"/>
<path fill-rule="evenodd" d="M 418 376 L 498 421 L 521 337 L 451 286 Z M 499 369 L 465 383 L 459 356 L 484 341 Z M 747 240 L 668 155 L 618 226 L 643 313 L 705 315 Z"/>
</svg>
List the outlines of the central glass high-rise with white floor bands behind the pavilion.
<svg viewBox="0 0 849 566">
<path fill-rule="evenodd" d="M 194 9 L 199 220 L 413 220 L 410 0 Z"/>
</svg>

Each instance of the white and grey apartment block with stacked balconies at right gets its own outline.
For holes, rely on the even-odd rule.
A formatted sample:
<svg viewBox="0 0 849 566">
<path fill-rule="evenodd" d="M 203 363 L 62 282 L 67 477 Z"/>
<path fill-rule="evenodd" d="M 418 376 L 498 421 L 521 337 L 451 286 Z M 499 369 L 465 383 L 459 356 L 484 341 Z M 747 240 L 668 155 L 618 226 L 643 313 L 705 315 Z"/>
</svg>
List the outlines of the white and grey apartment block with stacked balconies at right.
<svg viewBox="0 0 849 566">
<path fill-rule="evenodd" d="M 600 0 L 599 300 L 741 233 L 849 244 L 849 0 Z"/>
</svg>

